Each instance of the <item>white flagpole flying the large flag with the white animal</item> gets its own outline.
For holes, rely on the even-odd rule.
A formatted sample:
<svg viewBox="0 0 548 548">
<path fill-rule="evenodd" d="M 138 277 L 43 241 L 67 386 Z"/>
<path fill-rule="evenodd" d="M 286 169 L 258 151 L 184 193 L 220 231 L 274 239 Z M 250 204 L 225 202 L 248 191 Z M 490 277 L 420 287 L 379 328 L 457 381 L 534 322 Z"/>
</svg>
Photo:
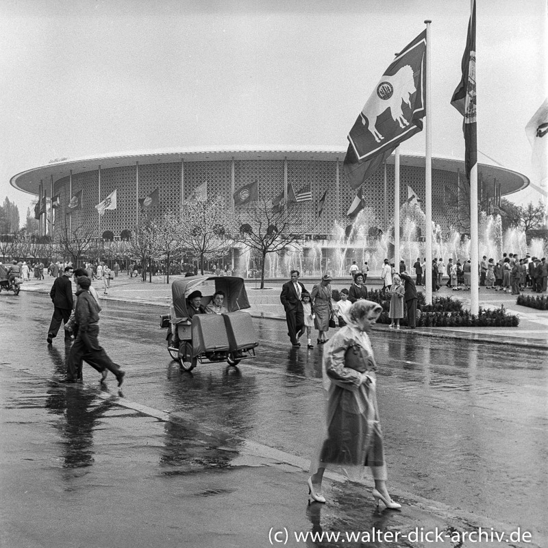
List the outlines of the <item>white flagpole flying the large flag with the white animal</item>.
<svg viewBox="0 0 548 548">
<path fill-rule="evenodd" d="M 426 116 L 425 116 L 425 136 L 426 136 L 426 155 L 425 155 L 425 212 L 426 212 L 426 264 L 425 264 L 425 303 L 432 304 L 432 101 L 430 95 L 430 21 L 425 21 L 426 25 Z"/>
</svg>

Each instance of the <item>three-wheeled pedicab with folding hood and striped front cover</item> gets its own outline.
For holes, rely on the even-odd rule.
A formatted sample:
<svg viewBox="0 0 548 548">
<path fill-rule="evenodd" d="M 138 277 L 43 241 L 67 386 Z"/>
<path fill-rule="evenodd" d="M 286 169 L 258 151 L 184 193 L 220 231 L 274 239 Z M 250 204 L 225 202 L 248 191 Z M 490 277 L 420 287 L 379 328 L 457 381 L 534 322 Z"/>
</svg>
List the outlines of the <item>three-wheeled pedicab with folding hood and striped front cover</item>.
<svg viewBox="0 0 548 548">
<path fill-rule="evenodd" d="M 188 296 L 199 290 L 206 308 L 216 291 L 223 291 L 223 314 L 189 314 Z M 167 350 L 182 369 L 192 371 L 199 363 L 227 362 L 255 358 L 257 335 L 250 314 L 244 280 L 235 276 L 190 276 L 171 284 L 173 301 L 170 314 L 160 316 L 160 327 L 167 327 Z"/>
</svg>

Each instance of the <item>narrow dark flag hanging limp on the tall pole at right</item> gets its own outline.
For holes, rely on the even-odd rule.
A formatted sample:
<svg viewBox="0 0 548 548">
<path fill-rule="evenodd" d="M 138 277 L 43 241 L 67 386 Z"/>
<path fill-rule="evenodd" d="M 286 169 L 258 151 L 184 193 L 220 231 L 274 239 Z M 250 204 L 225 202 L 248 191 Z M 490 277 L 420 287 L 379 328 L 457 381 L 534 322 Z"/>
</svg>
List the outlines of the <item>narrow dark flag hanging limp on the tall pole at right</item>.
<svg viewBox="0 0 548 548">
<path fill-rule="evenodd" d="M 475 1 L 468 23 L 468 35 L 466 36 L 466 49 L 462 55 L 462 78 L 457 86 L 451 105 L 455 107 L 464 120 L 462 131 L 464 132 L 464 160 L 466 164 L 466 177 L 470 183 L 470 172 L 477 164 L 477 123 L 476 123 L 476 97 L 475 97 Z"/>
</svg>

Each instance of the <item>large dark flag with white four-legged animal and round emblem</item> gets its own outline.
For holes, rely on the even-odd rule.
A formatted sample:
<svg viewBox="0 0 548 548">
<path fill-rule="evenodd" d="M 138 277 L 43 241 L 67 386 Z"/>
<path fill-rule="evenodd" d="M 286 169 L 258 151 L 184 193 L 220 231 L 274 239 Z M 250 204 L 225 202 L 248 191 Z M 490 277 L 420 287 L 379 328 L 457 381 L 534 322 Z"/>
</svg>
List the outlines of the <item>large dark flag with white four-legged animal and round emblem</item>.
<svg viewBox="0 0 548 548">
<path fill-rule="evenodd" d="M 425 79 L 423 31 L 384 71 L 348 134 L 345 172 L 352 188 L 361 186 L 401 142 L 423 129 Z"/>
</svg>

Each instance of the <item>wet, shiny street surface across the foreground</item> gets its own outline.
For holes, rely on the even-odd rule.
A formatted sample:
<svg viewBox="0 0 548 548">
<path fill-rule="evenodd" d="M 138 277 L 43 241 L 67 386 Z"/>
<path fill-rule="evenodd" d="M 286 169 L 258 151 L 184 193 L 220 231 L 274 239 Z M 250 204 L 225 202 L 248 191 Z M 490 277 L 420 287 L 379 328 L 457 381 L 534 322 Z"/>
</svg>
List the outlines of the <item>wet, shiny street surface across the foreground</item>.
<svg viewBox="0 0 548 548">
<path fill-rule="evenodd" d="M 282 538 L 271 543 L 271 527 L 291 546 L 458 546 L 478 527 L 520 527 L 532 542 L 504 545 L 546 545 L 547 350 L 375 330 L 389 486 L 403 510 L 376 511 L 370 480 L 338 477 L 325 482 L 327 505 L 308 506 L 321 347 L 291 349 L 284 323 L 255 319 L 255 360 L 184 373 L 166 352 L 163 308 L 109 295 L 99 338 L 127 371 L 123 390 L 112 378 L 101 390 L 88 366 L 84 385 L 67 387 L 54 379 L 69 347 L 45 343 L 51 301 L 30 287 L 0 295 L 2 546 L 259 547 Z M 461 536 L 295 538 L 373 527 Z"/>
</svg>

